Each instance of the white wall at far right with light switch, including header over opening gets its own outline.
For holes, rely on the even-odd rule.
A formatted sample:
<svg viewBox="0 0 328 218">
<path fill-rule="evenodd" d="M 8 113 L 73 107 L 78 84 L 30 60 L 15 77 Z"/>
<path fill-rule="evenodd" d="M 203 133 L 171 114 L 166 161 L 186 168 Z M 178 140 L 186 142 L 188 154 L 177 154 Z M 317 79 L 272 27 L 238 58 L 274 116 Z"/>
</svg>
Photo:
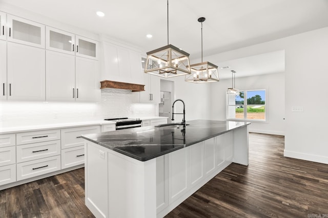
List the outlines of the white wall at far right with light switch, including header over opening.
<svg viewBox="0 0 328 218">
<path fill-rule="evenodd" d="M 285 50 L 285 156 L 328 163 L 327 39 L 328 28 L 322 28 L 211 56 L 223 62 Z M 293 106 L 304 111 L 292 112 Z"/>
</svg>

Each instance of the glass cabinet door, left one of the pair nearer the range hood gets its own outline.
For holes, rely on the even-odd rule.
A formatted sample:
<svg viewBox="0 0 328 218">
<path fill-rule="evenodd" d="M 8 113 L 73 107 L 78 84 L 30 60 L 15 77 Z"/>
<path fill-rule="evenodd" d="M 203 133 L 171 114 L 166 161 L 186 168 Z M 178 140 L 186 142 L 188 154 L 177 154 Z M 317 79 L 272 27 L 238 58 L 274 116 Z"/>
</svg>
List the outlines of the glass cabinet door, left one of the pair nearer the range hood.
<svg viewBox="0 0 328 218">
<path fill-rule="evenodd" d="M 46 49 L 74 55 L 75 35 L 46 27 Z"/>
</svg>

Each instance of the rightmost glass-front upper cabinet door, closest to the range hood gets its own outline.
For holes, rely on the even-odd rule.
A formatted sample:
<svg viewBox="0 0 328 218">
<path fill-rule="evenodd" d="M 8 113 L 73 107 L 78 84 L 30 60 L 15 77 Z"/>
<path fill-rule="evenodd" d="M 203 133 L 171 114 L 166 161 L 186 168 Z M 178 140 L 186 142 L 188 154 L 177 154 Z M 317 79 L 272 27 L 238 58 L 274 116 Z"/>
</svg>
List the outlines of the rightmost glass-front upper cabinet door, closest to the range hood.
<svg viewBox="0 0 328 218">
<path fill-rule="evenodd" d="M 75 36 L 76 56 L 98 59 L 98 42 L 81 36 Z"/>
</svg>

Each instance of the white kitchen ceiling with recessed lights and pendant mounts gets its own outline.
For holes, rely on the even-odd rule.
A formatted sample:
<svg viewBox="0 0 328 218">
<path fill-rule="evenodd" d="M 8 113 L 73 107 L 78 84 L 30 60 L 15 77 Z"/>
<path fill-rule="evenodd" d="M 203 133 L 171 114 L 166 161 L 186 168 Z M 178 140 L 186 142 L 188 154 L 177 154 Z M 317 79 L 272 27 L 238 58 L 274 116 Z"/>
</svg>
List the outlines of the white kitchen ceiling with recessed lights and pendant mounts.
<svg viewBox="0 0 328 218">
<path fill-rule="evenodd" d="M 109 35 L 145 52 L 167 44 L 166 0 L 0 2 Z M 103 11 L 105 16 L 98 17 L 96 11 Z M 191 59 L 200 57 L 200 23 L 197 18 L 202 16 L 206 17 L 203 22 L 203 56 L 209 56 L 328 27 L 328 0 L 170 0 L 169 43 L 190 53 Z M 153 38 L 147 38 L 147 34 L 152 34 Z M 270 54 L 263 55 L 262 58 L 267 59 Z M 250 64 L 244 66 L 251 70 Z M 242 65 L 240 67 L 239 71 L 243 70 Z"/>
</svg>

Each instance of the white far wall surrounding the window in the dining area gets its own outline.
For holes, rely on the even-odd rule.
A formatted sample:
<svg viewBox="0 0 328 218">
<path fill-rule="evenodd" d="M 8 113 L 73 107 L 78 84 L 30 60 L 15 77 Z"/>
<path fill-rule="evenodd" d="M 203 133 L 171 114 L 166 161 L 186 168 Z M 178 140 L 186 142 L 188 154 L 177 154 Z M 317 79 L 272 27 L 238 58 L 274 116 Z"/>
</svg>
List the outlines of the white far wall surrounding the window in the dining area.
<svg viewBox="0 0 328 218">
<path fill-rule="evenodd" d="M 252 122 L 250 132 L 284 135 L 284 73 L 267 74 L 253 77 L 236 78 L 236 88 L 240 90 L 267 90 L 267 122 Z M 231 87 L 231 79 L 211 84 L 211 118 L 227 119 L 227 89 Z"/>
</svg>

